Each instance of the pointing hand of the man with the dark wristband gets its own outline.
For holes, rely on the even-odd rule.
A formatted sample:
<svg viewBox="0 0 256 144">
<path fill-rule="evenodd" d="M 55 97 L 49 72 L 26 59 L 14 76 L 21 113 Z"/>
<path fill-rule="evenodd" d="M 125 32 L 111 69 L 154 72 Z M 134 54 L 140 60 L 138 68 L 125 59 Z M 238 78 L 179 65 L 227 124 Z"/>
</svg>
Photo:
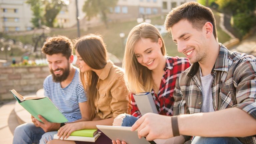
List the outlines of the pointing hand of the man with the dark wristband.
<svg viewBox="0 0 256 144">
<path fill-rule="evenodd" d="M 147 113 L 133 124 L 131 131 L 136 129 L 139 138 L 146 137 L 148 141 L 173 137 L 170 116 Z"/>
</svg>

